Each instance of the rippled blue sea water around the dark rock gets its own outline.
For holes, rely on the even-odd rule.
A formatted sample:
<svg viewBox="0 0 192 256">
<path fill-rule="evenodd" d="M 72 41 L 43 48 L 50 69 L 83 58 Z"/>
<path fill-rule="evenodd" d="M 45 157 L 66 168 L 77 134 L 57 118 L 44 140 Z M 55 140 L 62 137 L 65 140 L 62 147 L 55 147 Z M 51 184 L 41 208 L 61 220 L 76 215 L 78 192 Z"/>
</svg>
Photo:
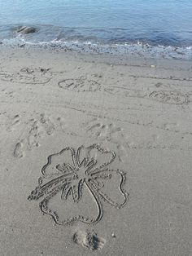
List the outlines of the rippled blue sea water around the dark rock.
<svg viewBox="0 0 192 256">
<path fill-rule="evenodd" d="M 0 0 L 0 40 L 192 46 L 191 0 Z M 16 28 L 37 27 L 22 35 Z"/>
</svg>

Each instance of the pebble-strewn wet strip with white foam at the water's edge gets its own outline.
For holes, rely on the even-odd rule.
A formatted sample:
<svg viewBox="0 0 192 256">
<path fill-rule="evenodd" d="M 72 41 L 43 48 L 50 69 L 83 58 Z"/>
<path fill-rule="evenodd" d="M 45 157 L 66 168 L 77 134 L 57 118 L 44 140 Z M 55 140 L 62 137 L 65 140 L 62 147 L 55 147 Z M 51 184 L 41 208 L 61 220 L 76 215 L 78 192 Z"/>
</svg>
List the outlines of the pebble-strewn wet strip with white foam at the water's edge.
<svg viewBox="0 0 192 256">
<path fill-rule="evenodd" d="M 31 34 L 29 34 L 31 36 Z M 99 43 L 78 41 L 28 42 L 18 34 L 18 38 L 0 41 L 4 47 L 24 47 L 42 51 L 74 52 L 85 55 L 114 56 L 116 59 L 149 59 L 149 60 L 192 60 L 192 46 L 152 46 L 148 43 Z"/>
</svg>

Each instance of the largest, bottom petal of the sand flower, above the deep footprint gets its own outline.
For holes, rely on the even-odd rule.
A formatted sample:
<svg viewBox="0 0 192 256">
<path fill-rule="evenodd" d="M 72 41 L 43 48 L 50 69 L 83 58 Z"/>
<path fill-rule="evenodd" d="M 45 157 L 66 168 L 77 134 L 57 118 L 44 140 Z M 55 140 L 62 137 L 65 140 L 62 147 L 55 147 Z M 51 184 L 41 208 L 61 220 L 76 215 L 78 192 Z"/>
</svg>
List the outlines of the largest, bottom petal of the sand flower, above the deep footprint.
<svg viewBox="0 0 192 256">
<path fill-rule="evenodd" d="M 103 216 L 103 209 L 100 201 L 94 195 L 94 191 L 89 185 L 84 183 L 82 186 L 81 200 L 74 204 L 72 196 L 63 201 L 61 190 L 52 192 L 40 203 L 41 211 L 50 214 L 55 223 L 60 225 L 72 224 L 77 221 L 82 223 L 97 223 Z"/>
</svg>

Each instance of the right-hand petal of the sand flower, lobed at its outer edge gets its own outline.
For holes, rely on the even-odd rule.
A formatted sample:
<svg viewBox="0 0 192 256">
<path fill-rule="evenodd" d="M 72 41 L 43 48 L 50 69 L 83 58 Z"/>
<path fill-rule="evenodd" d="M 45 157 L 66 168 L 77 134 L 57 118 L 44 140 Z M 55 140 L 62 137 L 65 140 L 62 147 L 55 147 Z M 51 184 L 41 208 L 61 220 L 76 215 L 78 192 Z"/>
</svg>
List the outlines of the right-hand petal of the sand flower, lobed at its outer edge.
<svg viewBox="0 0 192 256">
<path fill-rule="evenodd" d="M 120 209 L 128 200 L 128 193 L 124 191 L 125 174 L 120 170 L 102 170 L 89 179 L 91 188 L 110 205 Z"/>
</svg>

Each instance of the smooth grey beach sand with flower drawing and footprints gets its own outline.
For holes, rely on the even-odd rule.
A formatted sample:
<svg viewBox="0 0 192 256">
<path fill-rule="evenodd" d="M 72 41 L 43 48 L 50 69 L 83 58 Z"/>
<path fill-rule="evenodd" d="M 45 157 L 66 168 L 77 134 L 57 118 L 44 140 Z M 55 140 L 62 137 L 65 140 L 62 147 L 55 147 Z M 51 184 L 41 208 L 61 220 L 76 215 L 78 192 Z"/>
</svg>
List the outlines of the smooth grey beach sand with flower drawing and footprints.
<svg viewBox="0 0 192 256">
<path fill-rule="evenodd" d="M 191 256 L 192 62 L 0 51 L 0 255 Z"/>
</svg>

